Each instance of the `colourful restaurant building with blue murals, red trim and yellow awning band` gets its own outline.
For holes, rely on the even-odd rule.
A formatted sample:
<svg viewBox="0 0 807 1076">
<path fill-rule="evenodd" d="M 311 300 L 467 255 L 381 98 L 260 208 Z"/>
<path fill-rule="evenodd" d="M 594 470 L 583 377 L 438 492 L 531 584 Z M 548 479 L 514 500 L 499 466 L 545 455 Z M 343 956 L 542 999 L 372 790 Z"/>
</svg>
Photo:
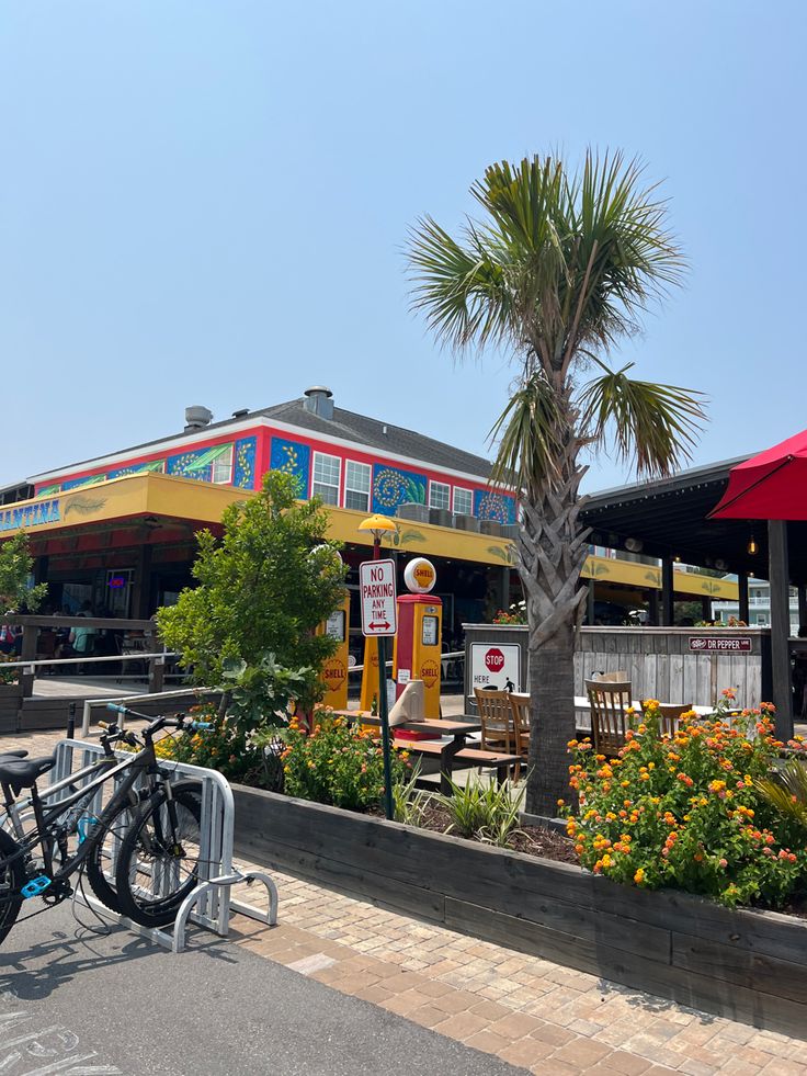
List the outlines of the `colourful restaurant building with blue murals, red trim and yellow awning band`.
<svg viewBox="0 0 807 1076">
<path fill-rule="evenodd" d="M 215 533 L 226 506 L 259 489 L 270 469 L 293 475 L 302 498 L 328 506 L 350 586 L 368 556 L 359 523 L 371 512 L 393 518 L 385 546 L 401 571 L 413 556 L 435 564 L 447 644 L 459 642 L 464 622 L 521 597 L 515 498 L 489 484 L 489 462 L 337 407 L 323 387 L 223 421 L 190 407 L 174 434 L 9 486 L 0 490 L 0 531 L 30 533 L 36 581 L 49 584 L 54 611 L 89 601 L 99 614 L 148 618 L 192 584 L 195 532 Z M 592 556 L 584 574 L 626 608 L 661 586 L 651 567 L 609 556 Z M 714 580 L 701 591 L 698 577 L 682 574 L 681 587 L 685 596 L 718 597 Z M 729 586 L 721 597 L 735 593 Z"/>
</svg>

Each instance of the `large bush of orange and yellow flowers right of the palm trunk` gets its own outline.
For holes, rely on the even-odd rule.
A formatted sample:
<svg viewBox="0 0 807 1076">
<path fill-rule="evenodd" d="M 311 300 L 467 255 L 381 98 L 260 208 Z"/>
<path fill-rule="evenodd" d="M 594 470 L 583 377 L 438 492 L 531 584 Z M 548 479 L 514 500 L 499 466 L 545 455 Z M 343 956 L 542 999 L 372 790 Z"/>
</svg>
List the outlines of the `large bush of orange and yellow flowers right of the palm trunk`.
<svg viewBox="0 0 807 1076">
<path fill-rule="evenodd" d="M 783 744 L 772 706 L 712 721 L 684 715 L 660 733 L 658 703 L 627 733 L 617 758 L 572 741 L 579 796 L 568 833 L 583 867 L 618 882 L 782 908 L 807 885 L 807 827 L 771 802 L 764 782 Z M 788 745 L 803 751 L 800 739 Z"/>
</svg>

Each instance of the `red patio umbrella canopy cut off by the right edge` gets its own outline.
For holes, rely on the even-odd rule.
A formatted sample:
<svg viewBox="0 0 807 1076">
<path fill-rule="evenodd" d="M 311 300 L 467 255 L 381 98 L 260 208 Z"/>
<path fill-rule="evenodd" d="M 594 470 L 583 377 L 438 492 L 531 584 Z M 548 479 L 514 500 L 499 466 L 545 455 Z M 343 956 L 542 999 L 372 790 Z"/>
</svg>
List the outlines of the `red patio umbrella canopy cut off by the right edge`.
<svg viewBox="0 0 807 1076">
<path fill-rule="evenodd" d="M 732 467 L 712 517 L 807 520 L 807 430 Z"/>
</svg>

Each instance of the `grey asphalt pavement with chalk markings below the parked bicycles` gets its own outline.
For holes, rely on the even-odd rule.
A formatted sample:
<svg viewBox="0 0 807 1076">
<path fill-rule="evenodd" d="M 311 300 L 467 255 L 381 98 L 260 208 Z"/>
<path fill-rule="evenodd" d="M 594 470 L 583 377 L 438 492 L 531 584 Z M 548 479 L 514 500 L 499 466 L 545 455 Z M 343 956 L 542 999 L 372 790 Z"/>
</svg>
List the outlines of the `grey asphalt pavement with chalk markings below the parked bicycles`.
<svg viewBox="0 0 807 1076">
<path fill-rule="evenodd" d="M 200 930 L 174 955 L 65 904 L 0 945 L 2 1076 L 523 1072 Z"/>
</svg>

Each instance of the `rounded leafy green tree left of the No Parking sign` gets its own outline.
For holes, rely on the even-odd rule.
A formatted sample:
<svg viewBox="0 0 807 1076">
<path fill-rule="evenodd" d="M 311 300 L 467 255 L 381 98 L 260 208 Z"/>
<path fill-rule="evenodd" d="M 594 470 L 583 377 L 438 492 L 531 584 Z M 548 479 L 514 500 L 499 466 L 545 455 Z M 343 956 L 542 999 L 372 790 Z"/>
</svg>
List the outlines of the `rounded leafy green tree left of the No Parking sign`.
<svg viewBox="0 0 807 1076">
<path fill-rule="evenodd" d="M 223 684 L 238 667 L 255 690 L 261 669 L 302 669 L 299 701 L 310 706 L 321 694 L 318 670 L 337 644 L 315 628 L 342 600 L 344 568 L 338 546 L 326 541 L 328 514 L 321 502 L 296 500 L 296 479 L 277 471 L 262 491 L 230 505 L 221 518 L 224 537 L 198 535 L 195 589 L 160 609 L 157 623 L 166 644 L 182 654 L 198 684 Z"/>
</svg>

